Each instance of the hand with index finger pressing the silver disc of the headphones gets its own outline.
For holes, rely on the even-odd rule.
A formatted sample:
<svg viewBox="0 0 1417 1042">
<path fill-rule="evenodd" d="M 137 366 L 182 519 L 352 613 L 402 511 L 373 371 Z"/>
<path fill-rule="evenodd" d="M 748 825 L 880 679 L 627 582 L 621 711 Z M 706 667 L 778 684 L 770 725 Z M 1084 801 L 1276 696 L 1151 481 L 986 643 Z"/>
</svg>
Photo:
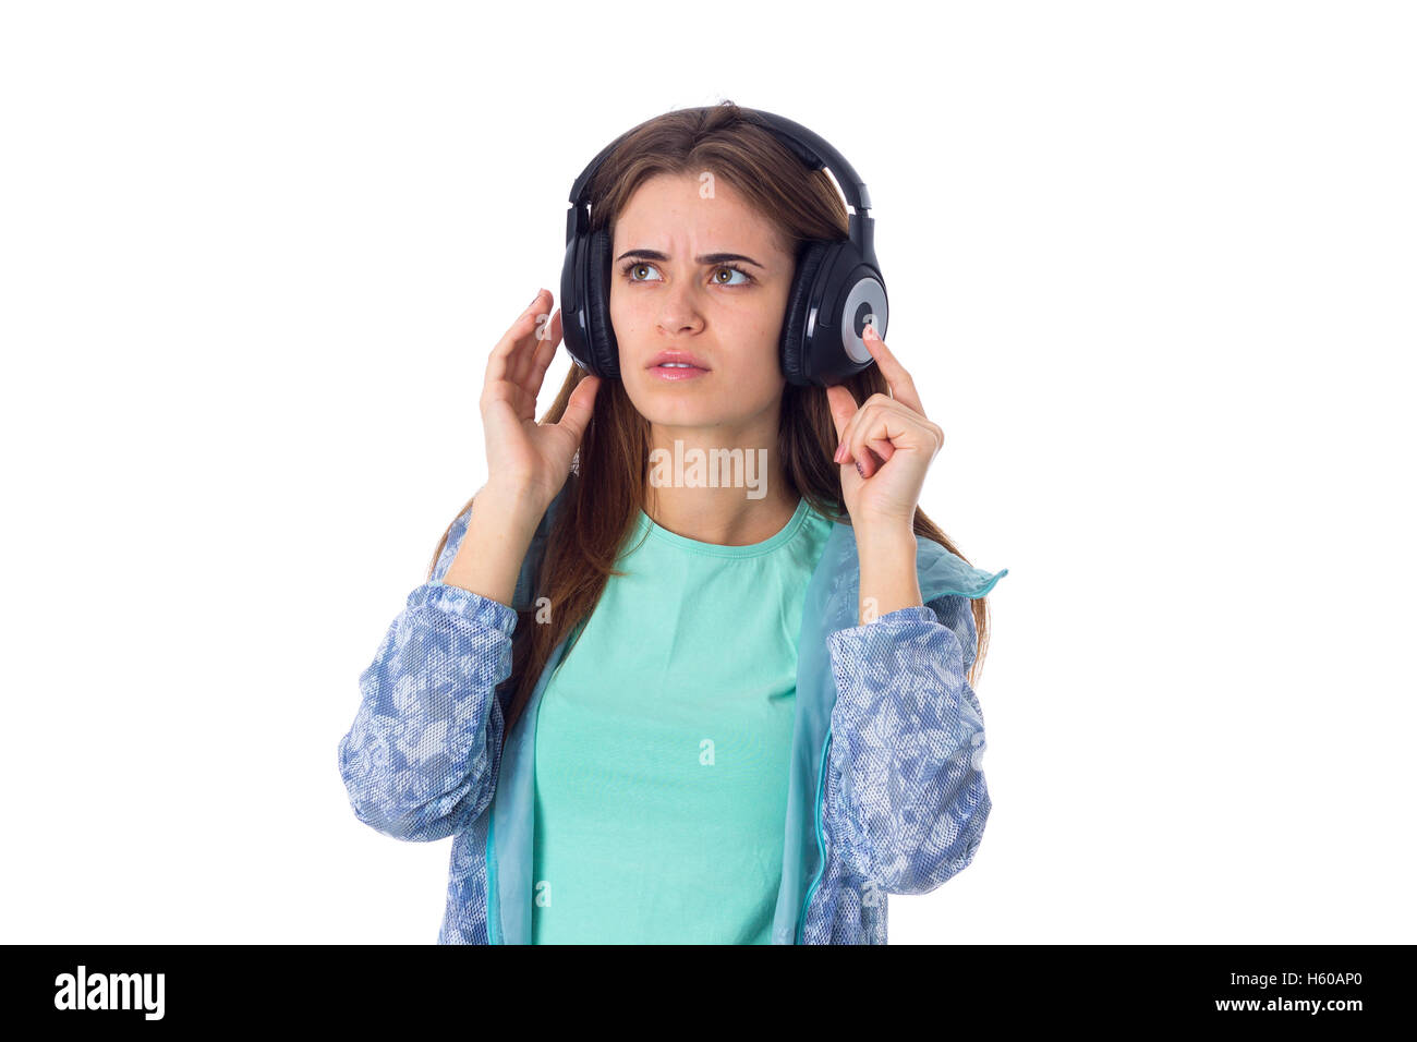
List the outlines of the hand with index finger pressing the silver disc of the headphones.
<svg viewBox="0 0 1417 1042">
<path fill-rule="evenodd" d="M 945 432 L 925 418 L 910 373 L 870 325 L 863 340 L 894 397 L 873 394 L 857 408 L 845 384 L 826 388 L 836 422 L 842 498 L 853 526 L 903 523 L 910 529 L 925 471 L 945 444 Z"/>
</svg>

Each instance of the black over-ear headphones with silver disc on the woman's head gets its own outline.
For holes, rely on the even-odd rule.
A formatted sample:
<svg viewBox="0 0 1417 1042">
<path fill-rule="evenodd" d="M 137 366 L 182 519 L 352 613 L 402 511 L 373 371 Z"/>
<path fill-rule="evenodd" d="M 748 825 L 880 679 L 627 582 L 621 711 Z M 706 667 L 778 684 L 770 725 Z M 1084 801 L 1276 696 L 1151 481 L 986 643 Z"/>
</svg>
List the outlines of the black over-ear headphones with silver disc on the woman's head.
<svg viewBox="0 0 1417 1042">
<path fill-rule="evenodd" d="M 779 357 L 788 381 L 799 387 L 840 383 L 876 362 L 862 340 L 866 323 L 886 336 L 886 281 L 876 262 L 871 198 L 840 152 L 801 123 L 762 109 L 740 106 L 786 145 L 811 170 L 826 167 L 853 213 L 850 238 L 812 240 L 798 252 L 796 274 L 782 320 Z M 648 122 L 648 121 L 646 121 Z M 643 126 L 640 123 L 639 126 Z M 595 170 L 628 135 L 612 140 L 571 186 L 565 215 L 565 262 L 561 267 L 561 327 L 571 357 L 592 374 L 619 377 L 619 347 L 611 326 L 611 233 L 591 231 L 589 186 Z"/>
</svg>

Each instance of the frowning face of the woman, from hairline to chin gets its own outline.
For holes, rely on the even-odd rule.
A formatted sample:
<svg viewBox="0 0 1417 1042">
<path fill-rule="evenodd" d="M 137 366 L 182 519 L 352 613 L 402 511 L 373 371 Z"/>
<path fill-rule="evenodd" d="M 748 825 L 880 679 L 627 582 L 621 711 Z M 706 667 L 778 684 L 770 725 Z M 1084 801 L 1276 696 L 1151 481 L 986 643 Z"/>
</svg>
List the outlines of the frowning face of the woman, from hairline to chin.
<svg viewBox="0 0 1417 1042">
<path fill-rule="evenodd" d="M 652 177 L 615 223 L 611 322 L 621 379 L 652 424 L 723 425 L 735 437 L 771 422 L 767 437 L 775 438 L 794 257 L 733 186 L 707 184 L 704 198 L 693 174 Z M 669 349 L 689 352 L 707 371 L 652 369 Z"/>
</svg>

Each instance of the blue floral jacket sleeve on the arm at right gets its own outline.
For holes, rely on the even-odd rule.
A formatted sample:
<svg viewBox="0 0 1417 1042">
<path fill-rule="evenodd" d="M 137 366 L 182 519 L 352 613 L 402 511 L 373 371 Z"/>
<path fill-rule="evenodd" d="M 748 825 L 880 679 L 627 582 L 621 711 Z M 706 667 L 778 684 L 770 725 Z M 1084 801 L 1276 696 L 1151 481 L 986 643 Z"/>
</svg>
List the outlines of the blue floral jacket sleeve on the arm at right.
<svg viewBox="0 0 1417 1042">
<path fill-rule="evenodd" d="M 969 598 L 948 594 L 828 638 L 833 815 L 843 856 L 886 893 L 928 893 L 983 838 L 989 790 Z"/>
</svg>

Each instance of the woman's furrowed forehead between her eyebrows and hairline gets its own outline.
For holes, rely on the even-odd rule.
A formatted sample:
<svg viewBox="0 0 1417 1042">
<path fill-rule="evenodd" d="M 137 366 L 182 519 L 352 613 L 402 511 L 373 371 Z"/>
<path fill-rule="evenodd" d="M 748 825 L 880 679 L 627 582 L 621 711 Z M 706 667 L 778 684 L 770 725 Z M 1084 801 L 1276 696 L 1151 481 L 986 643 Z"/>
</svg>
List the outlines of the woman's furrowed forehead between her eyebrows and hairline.
<svg viewBox="0 0 1417 1042">
<path fill-rule="evenodd" d="M 731 241 L 730 241 L 731 240 Z M 696 250 L 778 252 L 778 231 L 721 177 L 656 174 L 645 180 L 615 221 L 615 250 L 659 248 L 677 241 Z"/>
</svg>

